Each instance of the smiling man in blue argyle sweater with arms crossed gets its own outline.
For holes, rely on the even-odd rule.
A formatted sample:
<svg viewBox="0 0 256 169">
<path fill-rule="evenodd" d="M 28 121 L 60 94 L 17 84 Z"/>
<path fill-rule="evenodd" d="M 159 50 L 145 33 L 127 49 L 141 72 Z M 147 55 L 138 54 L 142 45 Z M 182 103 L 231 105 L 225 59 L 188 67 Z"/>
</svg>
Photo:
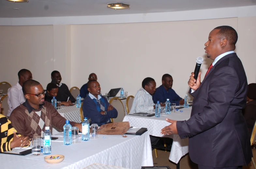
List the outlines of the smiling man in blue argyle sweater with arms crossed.
<svg viewBox="0 0 256 169">
<path fill-rule="evenodd" d="M 91 123 L 96 123 L 98 126 L 109 123 L 110 118 L 117 117 L 117 110 L 100 95 L 98 81 L 89 80 L 87 84 L 89 94 L 83 101 L 83 117 L 90 118 Z"/>
</svg>

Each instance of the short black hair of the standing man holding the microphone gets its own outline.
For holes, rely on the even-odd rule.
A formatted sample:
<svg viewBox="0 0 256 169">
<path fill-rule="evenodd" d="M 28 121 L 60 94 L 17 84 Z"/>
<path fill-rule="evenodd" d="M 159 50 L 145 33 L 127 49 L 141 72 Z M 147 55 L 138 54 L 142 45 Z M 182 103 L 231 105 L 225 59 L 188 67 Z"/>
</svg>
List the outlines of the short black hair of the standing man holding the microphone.
<svg viewBox="0 0 256 169">
<path fill-rule="evenodd" d="M 227 39 L 227 41 L 230 44 L 231 50 L 235 50 L 235 44 L 238 39 L 238 35 L 236 30 L 232 28 L 231 26 L 218 26 L 214 29 L 218 29 L 218 38 L 219 39 Z"/>
</svg>

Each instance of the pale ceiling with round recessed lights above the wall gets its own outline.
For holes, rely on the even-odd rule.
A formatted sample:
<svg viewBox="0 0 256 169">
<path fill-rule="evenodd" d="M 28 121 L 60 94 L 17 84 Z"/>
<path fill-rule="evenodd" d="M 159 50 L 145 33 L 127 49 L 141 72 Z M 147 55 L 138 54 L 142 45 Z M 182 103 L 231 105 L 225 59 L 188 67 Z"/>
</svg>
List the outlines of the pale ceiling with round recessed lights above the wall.
<svg viewBox="0 0 256 169">
<path fill-rule="evenodd" d="M 106 4 L 113 2 L 129 4 L 130 9 L 107 8 Z M 256 0 L 29 0 L 29 3 L 0 0 L 0 18 L 120 15 L 253 5 Z"/>
</svg>

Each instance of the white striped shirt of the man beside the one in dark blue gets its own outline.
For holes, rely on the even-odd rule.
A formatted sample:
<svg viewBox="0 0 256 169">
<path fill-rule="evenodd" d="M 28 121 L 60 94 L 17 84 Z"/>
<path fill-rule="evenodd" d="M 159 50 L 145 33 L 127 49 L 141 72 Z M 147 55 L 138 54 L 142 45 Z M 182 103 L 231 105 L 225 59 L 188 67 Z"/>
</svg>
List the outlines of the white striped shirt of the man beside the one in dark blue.
<svg viewBox="0 0 256 169">
<path fill-rule="evenodd" d="M 130 113 L 153 111 L 154 105 L 151 94 L 141 88 L 134 97 Z"/>
</svg>

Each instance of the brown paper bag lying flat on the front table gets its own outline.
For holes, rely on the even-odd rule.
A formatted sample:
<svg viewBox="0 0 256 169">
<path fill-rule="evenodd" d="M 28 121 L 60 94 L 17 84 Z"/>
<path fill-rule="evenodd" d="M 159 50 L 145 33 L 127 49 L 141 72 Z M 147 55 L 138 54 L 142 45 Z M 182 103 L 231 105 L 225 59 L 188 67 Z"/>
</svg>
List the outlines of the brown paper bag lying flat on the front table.
<svg viewBox="0 0 256 169">
<path fill-rule="evenodd" d="M 130 128 L 128 121 L 118 123 L 108 123 L 99 127 L 98 134 L 123 135 Z"/>
</svg>

